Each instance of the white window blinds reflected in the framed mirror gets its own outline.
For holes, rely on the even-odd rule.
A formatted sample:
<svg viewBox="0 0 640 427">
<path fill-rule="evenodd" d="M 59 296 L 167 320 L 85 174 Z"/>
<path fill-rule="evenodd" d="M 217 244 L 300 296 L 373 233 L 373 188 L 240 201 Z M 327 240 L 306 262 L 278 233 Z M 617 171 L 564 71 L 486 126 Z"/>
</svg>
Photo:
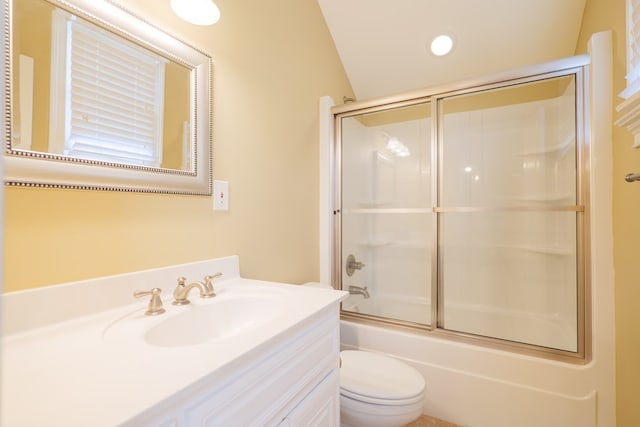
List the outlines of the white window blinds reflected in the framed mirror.
<svg viewBox="0 0 640 427">
<path fill-rule="evenodd" d="M 67 21 L 65 155 L 159 167 L 164 59 Z"/>
</svg>

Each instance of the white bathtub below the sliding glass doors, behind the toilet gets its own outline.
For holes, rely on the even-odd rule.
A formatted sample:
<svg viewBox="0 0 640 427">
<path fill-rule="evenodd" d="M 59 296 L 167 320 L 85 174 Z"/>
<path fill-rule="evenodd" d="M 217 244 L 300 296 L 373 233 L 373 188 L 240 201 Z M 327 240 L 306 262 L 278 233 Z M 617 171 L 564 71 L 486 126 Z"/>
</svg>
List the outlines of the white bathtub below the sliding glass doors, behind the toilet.
<svg viewBox="0 0 640 427">
<path fill-rule="evenodd" d="M 401 301 L 382 305 L 375 297 L 353 297 L 343 309 L 379 308 L 382 315 L 402 307 Z M 597 425 L 592 364 L 572 365 L 344 318 L 341 347 L 386 354 L 413 366 L 427 384 L 424 413 L 461 426 Z"/>
</svg>

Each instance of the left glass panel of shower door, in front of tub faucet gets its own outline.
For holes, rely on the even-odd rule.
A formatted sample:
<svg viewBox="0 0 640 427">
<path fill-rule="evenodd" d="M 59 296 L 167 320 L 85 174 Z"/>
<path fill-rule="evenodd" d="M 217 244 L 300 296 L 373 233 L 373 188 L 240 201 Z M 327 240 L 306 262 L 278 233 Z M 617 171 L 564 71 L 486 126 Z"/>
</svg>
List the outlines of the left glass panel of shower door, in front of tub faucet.
<svg viewBox="0 0 640 427">
<path fill-rule="evenodd" d="M 431 105 L 343 117 L 340 280 L 344 311 L 431 322 Z"/>
</svg>

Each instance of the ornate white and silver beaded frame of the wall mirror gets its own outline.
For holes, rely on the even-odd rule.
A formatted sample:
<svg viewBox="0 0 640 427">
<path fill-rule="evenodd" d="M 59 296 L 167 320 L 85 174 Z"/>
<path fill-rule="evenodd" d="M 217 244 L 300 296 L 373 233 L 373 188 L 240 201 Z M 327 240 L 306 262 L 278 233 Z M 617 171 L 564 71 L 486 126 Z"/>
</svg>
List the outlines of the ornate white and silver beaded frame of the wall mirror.
<svg viewBox="0 0 640 427">
<path fill-rule="evenodd" d="M 12 7 L 3 0 L 4 182 L 11 186 L 210 195 L 212 192 L 212 60 L 110 0 L 46 0 L 169 60 L 190 73 L 190 164 L 186 170 L 83 160 L 12 148 Z M 44 0 L 43 0 L 44 1 Z"/>
</svg>

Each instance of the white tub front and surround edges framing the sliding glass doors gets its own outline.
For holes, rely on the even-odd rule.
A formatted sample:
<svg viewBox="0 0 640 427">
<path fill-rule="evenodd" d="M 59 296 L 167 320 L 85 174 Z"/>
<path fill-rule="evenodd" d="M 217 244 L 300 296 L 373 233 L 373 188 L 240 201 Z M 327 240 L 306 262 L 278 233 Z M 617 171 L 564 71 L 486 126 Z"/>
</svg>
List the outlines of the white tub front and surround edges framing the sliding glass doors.
<svg viewBox="0 0 640 427">
<path fill-rule="evenodd" d="M 386 353 L 418 369 L 427 383 L 425 413 L 473 427 L 612 427 L 615 419 L 615 343 L 612 179 L 611 33 L 590 43 L 591 349 L 585 365 L 520 355 L 434 335 L 342 321 L 342 345 Z M 321 100 L 321 135 L 330 135 L 331 100 Z M 333 176 L 331 142 L 321 140 L 321 170 Z M 331 206 L 321 194 L 320 206 Z M 321 211 L 328 223 L 330 209 Z M 321 281 L 330 281 L 329 234 L 320 235 Z"/>
</svg>

